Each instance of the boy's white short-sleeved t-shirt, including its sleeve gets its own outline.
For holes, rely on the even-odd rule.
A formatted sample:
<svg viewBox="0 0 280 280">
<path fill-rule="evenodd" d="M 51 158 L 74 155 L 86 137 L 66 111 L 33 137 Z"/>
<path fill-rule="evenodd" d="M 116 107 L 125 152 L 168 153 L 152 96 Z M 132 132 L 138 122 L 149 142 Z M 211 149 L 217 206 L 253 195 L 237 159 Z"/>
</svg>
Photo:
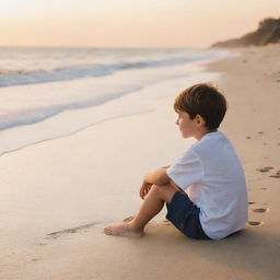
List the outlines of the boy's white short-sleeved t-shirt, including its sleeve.
<svg viewBox="0 0 280 280">
<path fill-rule="evenodd" d="M 205 135 L 166 173 L 200 208 L 200 223 L 210 238 L 223 238 L 245 226 L 248 203 L 244 172 L 221 131 Z"/>
</svg>

